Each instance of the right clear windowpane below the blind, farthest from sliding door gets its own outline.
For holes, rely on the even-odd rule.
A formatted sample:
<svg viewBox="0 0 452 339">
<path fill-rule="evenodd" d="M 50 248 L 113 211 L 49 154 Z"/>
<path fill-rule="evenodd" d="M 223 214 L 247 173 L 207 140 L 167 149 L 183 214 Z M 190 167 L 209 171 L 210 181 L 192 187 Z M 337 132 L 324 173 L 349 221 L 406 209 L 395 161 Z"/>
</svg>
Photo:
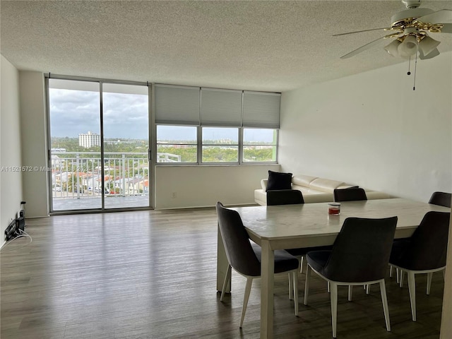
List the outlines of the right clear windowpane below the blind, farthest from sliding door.
<svg viewBox="0 0 452 339">
<path fill-rule="evenodd" d="M 277 129 L 243 129 L 243 162 L 275 162 Z"/>
</svg>

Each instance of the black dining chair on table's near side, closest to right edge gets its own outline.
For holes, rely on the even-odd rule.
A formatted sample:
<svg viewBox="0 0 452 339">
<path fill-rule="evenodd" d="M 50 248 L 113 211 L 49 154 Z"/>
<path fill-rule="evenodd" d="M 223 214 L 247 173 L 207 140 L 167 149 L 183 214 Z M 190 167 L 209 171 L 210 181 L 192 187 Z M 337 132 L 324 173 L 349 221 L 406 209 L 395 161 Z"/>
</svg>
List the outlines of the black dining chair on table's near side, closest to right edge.
<svg viewBox="0 0 452 339">
<path fill-rule="evenodd" d="M 427 273 L 429 295 L 432 274 L 446 268 L 450 218 L 448 212 L 427 212 L 408 240 L 393 243 L 389 264 L 400 271 L 400 287 L 403 285 L 403 272 L 408 273 L 412 321 L 416 321 L 415 275 Z"/>
</svg>

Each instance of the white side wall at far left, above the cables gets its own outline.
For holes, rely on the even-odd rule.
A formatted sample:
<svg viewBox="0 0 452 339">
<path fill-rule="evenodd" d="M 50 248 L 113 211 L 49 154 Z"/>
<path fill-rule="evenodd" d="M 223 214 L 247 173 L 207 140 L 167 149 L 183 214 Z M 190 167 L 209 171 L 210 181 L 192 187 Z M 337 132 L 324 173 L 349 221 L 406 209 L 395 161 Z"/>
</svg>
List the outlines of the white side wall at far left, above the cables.
<svg viewBox="0 0 452 339">
<path fill-rule="evenodd" d="M 22 173 L 11 172 L 9 167 L 20 167 L 19 72 L 3 56 L 1 67 L 1 119 L 0 119 L 0 230 L 3 246 L 4 232 L 17 217 L 22 201 Z M 11 168 L 12 169 L 12 168 Z"/>
</svg>

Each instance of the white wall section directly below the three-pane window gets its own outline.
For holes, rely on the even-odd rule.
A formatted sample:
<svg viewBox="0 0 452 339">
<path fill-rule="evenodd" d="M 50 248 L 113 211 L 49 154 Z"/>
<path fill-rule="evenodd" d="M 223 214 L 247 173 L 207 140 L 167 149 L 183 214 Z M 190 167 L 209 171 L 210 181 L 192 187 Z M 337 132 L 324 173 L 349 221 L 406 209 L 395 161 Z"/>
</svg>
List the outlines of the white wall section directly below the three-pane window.
<svg viewBox="0 0 452 339">
<path fill-rule="evenodd" d="M 155 208 L 215 206 L 217 201 L 226 206 L 254 204 L 254 190 L 261 188 L 268 169 L 278 171 L 280 166 L 157 166 Z"/>
</svg>

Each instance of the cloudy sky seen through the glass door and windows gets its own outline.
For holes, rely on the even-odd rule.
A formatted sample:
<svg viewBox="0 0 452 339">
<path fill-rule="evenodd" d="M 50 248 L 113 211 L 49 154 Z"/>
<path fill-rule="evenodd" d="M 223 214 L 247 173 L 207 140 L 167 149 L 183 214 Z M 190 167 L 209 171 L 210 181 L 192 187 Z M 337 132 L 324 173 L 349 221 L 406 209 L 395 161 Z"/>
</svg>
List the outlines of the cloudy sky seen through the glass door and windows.
<svg viewBox="0 0 452 339">
<path fill-rule="evenodd" d="M 148 95 L 104 92 L 105 138 L 148 138 Z M 100 134 L 100 93 L 93 90 L 49 89 L 50 133 L 53 137 L 78 138 L 78 134 Z M 237 129 L 208 128 L 203 139 L 238 141 Z M 246 129 L 245 141 L 273 141 L 272 130 Z M 196 140 L 194 127 L 157 127 L 158 140 Z"/>
</svg>

